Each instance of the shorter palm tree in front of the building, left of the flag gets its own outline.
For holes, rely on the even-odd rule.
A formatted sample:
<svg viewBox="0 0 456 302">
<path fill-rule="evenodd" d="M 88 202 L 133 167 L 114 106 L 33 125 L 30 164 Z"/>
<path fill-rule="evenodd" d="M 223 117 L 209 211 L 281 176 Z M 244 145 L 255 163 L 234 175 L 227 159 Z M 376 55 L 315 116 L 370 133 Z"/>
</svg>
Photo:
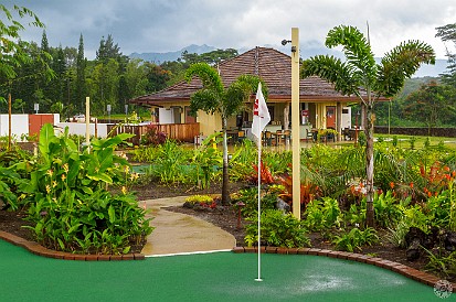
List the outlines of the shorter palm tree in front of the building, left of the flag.
<svg viewBox="0 0 456 302">
<path fill-rule="evenodd" d="M 243 108 L 244 103 L 256 90 L 259 78 L 253 75 L 242 75 L 227 88 L 223 86 L 219 73 L 206 63 L 197 63 L 185 72 L 185 79 L 190 82 L 197 76 L 203 87 L 190 98 L 190 112 L 197 115 L 199 110 L 213 115 L 220 114 L 222 118 L 223 132 L 223 177 L 222 177 L 222 204 L 227 204 L 229 196 L 229 163 L 227 163 L 227 119 L 236 115 Z M 263 85 L 263 87 L 265 87 Z M 266 90 L 263 88 L 266 97 Z"/>
</svg>

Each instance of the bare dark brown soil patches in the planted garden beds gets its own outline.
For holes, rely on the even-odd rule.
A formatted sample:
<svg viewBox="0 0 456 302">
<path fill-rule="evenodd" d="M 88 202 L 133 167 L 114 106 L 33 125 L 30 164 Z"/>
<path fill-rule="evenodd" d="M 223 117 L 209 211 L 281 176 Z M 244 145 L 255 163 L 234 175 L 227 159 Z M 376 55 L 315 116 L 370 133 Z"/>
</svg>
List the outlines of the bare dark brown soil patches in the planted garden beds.
<svg viewBox="0 0 456 302">
<path fill-rule="evenodd" d="M 231 184 L 230 192 L 237 192 L 243 186 L 243 184 Z M 194 194 L 220 194 L 221 186 L 220 184 L 214 184 L 206 190 L 198 190 L 191 186 L 166 186 L 149 184 L 147 186 L 134 187 L 134 191 L 137 192 L 138 199 L 144 201 Z M 238 222 L 238 212 L 233 206 L 224 206 L 216 209 L 208 208 L 198 211 L 184 207 L 169 207 L 168 209 L 197 216 L 201 219 L 210 222 L 232 234 L 236 238 L 237 246 L 244 245 L 244 226 L 247 222 L 245 222 L 243 218 L 241 219 L 241 222 Z M 11 233 L 29 240 L 33 240 L 34 238 L 32 231 L 23 227 L 24 225 L 28 225 L 28 223 L 23 220 L 24 216 L 24 213 L 20 211 L 0 211 L 0 230 Z M 362 250 L 358 250 L 357 252 L 380 257 L 403 263 L 422 271 L 426 271 L 425 265 L 427 262 L 427 258 L 425 257 L 425 255 L 422 255 L 418 260 L 409 261 L 405 256 L 405 250 L 395 248 L 392 244 L 385 240 L 385 234 L 386 231 L 384 230 L 378 230 L 378 235 L 381 238 L 381 241 L 374 246 L 363 247 Z M 330 244 L 330 240 L 325 239 L 319 233 L 310 234 L 309 237 L 311 239 L 311 247 L 314 248 L 335 249 L 335 247 Z"/>
</svg>

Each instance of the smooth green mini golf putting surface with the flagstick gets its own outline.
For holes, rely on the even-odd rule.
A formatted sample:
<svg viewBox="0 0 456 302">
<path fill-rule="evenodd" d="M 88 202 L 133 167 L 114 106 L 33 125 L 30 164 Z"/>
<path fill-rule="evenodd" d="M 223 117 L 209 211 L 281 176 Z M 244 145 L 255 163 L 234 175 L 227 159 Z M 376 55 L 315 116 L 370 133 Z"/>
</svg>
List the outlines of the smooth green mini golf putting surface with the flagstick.
<svg viewBox="0 0 456 302">
<path fill-rule="evenodd" d="M 71 261 L 0 240 L 0 301 L 439 301 L 433 288 L 327 257 L 214 252 Z M 446 299 L 455 301 L 456 294 Z"/>
</svg>

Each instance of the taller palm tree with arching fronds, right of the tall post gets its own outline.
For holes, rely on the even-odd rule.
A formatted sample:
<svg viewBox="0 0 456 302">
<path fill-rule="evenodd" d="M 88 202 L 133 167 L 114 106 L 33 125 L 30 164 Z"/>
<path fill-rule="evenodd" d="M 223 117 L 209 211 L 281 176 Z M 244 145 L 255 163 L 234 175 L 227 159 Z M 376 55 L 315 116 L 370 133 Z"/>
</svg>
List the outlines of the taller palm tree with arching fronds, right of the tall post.
<svg viewBox="0 0 456 302">
<path fill-rule="evenodd" d="M 373 226 L 373 105 L 394 96 L 422 64 L 434 64 L 432 46 L 421 41 L 402 42 L 375 63 L 369 40 L 353 26 L 339 25 L 328 32 L 326 46 L 342 46 L 346 61 L 329 55 L 306 60 L 301 77 L 319 76 L 335 84 L 342 95 L 354 95 L 365 109 L 367 225 Z"/>
</svg>

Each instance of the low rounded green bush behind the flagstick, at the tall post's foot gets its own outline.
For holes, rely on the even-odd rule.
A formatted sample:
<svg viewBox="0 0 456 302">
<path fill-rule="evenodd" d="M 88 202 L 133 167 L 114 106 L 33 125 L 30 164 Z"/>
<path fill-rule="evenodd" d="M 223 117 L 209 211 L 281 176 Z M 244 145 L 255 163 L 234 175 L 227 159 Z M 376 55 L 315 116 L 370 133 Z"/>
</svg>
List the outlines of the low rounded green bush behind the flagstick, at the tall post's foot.
<svg viewBox="0 0 456 302">
<path fill-rule="evenodd" d="M 261 219 L 262 242 L 287 248 L 310 246 L 306 229 L 293 214 L 284 214 L 278 209 L 265 209 L 262 212 Z M 251 224 L 246 226 L 245 242 L 252 247 L 258 241 L 258 218 L 253 216 L 247 220 Z"/>
</svg>

